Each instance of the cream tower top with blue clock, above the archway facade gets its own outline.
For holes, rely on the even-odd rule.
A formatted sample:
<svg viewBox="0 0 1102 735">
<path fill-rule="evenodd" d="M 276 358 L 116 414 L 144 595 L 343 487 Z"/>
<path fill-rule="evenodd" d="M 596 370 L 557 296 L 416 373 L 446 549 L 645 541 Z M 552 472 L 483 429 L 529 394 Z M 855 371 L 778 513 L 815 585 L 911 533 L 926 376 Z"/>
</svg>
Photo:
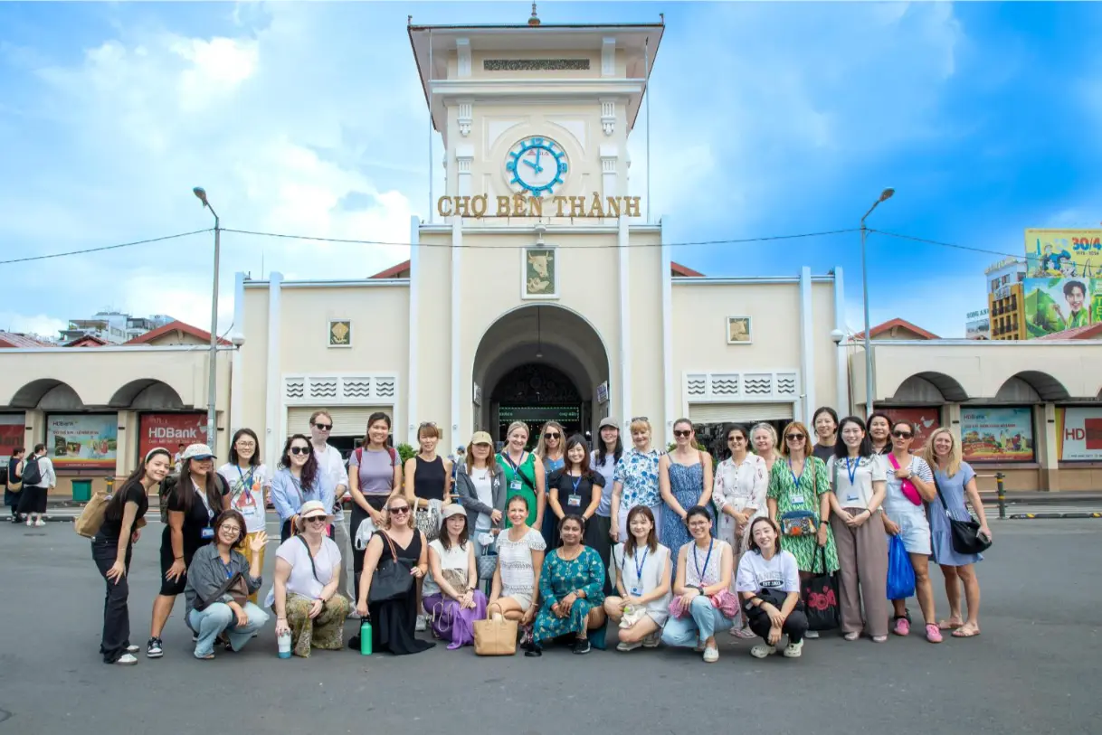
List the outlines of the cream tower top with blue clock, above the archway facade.
<svg viewBox="0 0 1102 735">
<path fill-rule="evenodd" d="M 444 142 L 431 221 L 639 221 L 627 140 L 663 28 L 543 24 L 534 6 L 525 25 L 411 24 Z"/>
</svg>

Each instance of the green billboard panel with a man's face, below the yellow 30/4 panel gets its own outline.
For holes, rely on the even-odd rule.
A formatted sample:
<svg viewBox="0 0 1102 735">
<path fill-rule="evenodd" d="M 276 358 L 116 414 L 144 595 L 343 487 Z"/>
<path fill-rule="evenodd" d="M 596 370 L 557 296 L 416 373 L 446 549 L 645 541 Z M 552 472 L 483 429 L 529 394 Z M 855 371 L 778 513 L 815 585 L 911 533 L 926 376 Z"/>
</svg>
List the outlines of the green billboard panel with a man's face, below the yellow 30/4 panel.
<svg viewBox="0 0 1102 735">
<path fill-rule="evenodd" d="M 1102 281 L 1027 278 L 1022 288 L 1028 338 L 1102 322 Z"/>
</svg>

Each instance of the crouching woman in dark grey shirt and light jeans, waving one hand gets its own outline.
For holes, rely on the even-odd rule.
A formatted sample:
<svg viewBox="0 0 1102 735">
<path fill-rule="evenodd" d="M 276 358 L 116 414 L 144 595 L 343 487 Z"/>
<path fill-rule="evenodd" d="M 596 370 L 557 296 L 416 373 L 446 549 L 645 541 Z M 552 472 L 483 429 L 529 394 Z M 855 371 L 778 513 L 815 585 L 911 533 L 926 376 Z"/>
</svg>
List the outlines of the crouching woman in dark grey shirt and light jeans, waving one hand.
<svg viewBox="0 0 1102 735">
<path fill-rule="evenodd" d="M 260 551 L 268 543 L 268 534 L 260 531 L 250 539 L 251 564 L 235 550 L 246 534 L 245 517 L 236 510 L 224 510 L 215 521 L 214 543 L 196 551 L 187 568 L 185 619 L 197 636 L 197 659 L 213 659 L 214 641 L 224 634 L 229 640 L 226 650 L 241 650 L 268 621 L 268 613 L 248 601 L 262 584 Z"/>
</svg>

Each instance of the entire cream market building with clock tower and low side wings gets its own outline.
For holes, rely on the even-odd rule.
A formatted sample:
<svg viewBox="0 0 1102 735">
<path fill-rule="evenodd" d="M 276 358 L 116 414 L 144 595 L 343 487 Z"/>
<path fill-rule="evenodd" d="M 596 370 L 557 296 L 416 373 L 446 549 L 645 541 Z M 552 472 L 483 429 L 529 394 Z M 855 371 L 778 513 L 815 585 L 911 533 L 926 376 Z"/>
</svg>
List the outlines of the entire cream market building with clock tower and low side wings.
<svg viewBox="0 0 1102 735">
<path fill-rule="evenodd" d="M 515 420 L 533 434 L 548 420 L 595 434 L 604 417 L 625 430 L 648 417 L 665 445 L 688 417 L 722 451 L 727 422 L 865 412 L 841 268 L 701 274 L 672 260 L 669 217 L 631 194 L 627 141 L 662 24 L 408 32 L 445 188 L 411 221 L 406 263 L 334 280 L 237 274 L 235 336 L 218 352 L 217 452 L 250 426 L 274 463 L 320 409 L 345 452 L 385 411 L 396 444 L 415 445 L 418 426 L 436 423 L 444 454 L 477 430 L 503 440 Z M 182 417 L 205 409 L 205 333 L 188 345 L 169 332 L 119 347 L 0 349 L 0 424 L 19 425 L 24 445 L 69 456 L 67 424 L 98 428 L 86 462 L 60 465 L 60 491 L 127 472 L 139 434 L 159 422 L 165 435 L 186 431 Z M 1102 487 L 1102 344 L 940 339 L 901 320 L 871 337 L 876 408 L 927 433 L 952 428 L 985 487 L 995 472 L 1017 489 Z"/>
</svg>

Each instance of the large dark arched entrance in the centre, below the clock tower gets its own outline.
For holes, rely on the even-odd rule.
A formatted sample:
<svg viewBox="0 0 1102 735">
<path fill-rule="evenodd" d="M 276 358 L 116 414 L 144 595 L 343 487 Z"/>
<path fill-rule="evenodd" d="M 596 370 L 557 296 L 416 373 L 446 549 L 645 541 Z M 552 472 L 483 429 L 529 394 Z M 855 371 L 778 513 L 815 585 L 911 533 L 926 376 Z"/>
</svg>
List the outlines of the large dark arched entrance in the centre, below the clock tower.
<svg viewBox="0 0 1102 735">
<path fill-rule="evenodd" d="M 532 443 L 547 421 L 592 437 L 609 413 L 608 356 L 596 329 L 559 305 L 520 306 L 500 316 L 475 353 L 475 429 L 505 441 L 509 423 L 529 425 Z M 598 396 L 599 393 L 599 396 Z"/>
</svg>

